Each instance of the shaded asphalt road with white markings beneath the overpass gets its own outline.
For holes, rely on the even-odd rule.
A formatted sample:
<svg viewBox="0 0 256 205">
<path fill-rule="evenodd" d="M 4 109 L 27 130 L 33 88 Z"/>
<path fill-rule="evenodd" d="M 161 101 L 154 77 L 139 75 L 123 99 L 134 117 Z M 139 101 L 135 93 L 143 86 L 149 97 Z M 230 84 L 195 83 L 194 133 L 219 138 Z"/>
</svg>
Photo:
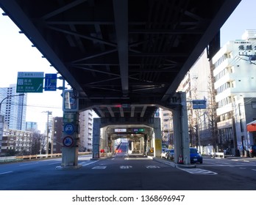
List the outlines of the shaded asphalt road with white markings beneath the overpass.
<svg viewBox="0 0 256 205">
<path fill-rule="evenodd" d="M 146 157 L 90 160 L 57 169 L 61 159 L 0 164 L 0 190 L 256 190 L 256 158 L 204 158 L 178 168 Z"/>
</svg>

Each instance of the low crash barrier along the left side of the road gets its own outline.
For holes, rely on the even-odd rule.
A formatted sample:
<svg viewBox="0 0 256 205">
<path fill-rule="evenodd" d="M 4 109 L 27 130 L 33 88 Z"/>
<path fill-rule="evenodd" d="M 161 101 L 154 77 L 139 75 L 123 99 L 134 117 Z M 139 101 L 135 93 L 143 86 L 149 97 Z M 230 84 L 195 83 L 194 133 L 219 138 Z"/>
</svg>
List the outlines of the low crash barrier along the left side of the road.
<svg viewBox="0 0 256 205">
<path fill-rule="evenodd" d="M 85 154 L 91 154 L 91 152 L 78 152 L 78 154 L 85 155 Z M 21 161 L 21 160 L 32 160 L 32 159 L 42 159 L 47 157 L 61 157 L 61 156 L 62 156 L 62 153 L 0 157 L 0 163 L 9 163 L 9 162 L 15 162 L 15 161 Z"/>
</svg>

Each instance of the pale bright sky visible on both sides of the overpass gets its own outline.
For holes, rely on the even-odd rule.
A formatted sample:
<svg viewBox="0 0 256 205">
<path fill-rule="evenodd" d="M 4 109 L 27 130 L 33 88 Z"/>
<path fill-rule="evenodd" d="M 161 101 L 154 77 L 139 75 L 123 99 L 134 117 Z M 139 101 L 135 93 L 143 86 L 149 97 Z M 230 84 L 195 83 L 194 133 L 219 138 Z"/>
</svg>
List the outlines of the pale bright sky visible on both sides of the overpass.
<svg viewBox="0 0 256 205">
<path fill-rule="evenodd" d="M 255 21 L 256 0 L 242 0 L 221 28 L 221 46 L 229 40 L 241 39 L 246 29 L 256 29 Z M 0 26 L 0 87 L 16 83 L 18 71 L 56 73 L 40 52 L 32 48 L 32 43 L 24 34 L 18 33 L 20 30 L 10 18 L 0 15 Z M 58 86 L 62 86 L 61 81 Z M 62 116 L 60 94 L 60 91 L 29 94 L 26 121 L 38 122 L 39 126 L 45 126 L 46 113 L 42 111 L 52 111 L 53 116 Z"/>
</svg>

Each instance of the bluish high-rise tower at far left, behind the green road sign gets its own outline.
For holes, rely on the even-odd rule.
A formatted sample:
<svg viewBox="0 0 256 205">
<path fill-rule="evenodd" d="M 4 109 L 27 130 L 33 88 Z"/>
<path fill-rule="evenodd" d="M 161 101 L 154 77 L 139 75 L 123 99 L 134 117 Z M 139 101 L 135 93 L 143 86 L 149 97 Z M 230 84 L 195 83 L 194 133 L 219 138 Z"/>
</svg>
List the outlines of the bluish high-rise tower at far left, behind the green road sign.
<svg viewBox="0 0 256 205">
<path fill-rule="evenodd" d="M 9 129 L 26 130 L 27 94 L 18 96 L 16 84 L 0 89 L 1 115 Z"/>
</svg>

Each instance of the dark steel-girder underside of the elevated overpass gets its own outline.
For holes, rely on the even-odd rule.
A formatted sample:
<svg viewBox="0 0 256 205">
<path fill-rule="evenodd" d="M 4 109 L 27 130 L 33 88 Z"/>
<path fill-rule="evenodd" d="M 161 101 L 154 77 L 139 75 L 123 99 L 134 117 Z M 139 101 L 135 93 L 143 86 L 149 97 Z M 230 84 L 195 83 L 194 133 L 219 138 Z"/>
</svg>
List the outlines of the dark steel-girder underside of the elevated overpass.
<svg viewBox="0 0 256 205">
<path fill-rule="evenodd" d="M 218 51 L 221 26 L 240 1 L 0 0 L 0 7 L 77 93 L 79 111 L 140 122 L 160 107 L 182 113 L 179 83 L 205 48 L 209 59 Z"/>
</svg>

